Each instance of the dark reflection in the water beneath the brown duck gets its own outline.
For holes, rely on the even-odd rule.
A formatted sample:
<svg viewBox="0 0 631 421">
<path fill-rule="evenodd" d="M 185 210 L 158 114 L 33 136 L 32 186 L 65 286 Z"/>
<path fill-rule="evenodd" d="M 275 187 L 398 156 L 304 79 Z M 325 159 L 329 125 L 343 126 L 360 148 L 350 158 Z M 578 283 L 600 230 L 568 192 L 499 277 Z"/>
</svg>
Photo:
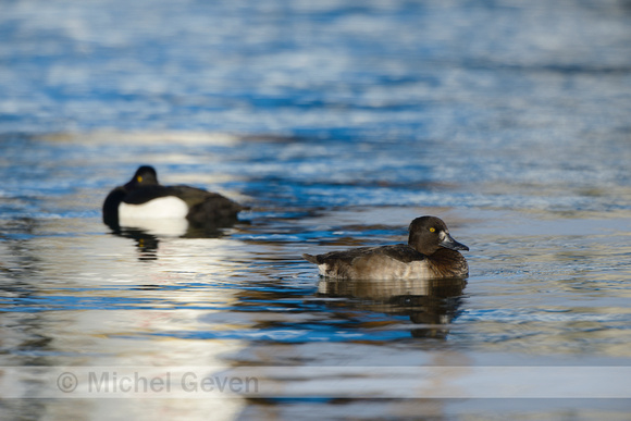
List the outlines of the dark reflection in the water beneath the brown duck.
<svg viewBox="0 0 631 421">
<path fill-rule="evenodd" d="M 344 297 L 344 307 L 392 315 L 408 315 L 418 329 L 413 337 L 445 338 L 448 324 L 458 315 L 465 278 L 442 280 L 335 280 L 322 277 L 318 295 Z M 336 306 L 338 304 L 333 304 Z"/>
</svg>

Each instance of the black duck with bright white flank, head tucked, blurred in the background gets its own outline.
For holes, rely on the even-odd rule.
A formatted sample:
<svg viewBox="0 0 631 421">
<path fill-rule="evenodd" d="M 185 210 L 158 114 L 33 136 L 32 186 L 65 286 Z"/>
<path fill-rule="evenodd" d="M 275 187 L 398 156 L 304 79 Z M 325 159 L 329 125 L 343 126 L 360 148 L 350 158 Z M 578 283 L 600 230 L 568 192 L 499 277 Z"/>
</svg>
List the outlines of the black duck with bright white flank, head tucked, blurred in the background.
<svg viewBox="0 0 631 421">
<path fill-rule="evenodd" d="M 117 228 L 148 220 L 177 220 L 194 226 L 230 224 L 244 209 L 218 193 L 185 185 L 163 186 L 156 169 L 143 165 L 129 182 L 109 193 L 102 212 L 106 225 Z"/>
</svg>

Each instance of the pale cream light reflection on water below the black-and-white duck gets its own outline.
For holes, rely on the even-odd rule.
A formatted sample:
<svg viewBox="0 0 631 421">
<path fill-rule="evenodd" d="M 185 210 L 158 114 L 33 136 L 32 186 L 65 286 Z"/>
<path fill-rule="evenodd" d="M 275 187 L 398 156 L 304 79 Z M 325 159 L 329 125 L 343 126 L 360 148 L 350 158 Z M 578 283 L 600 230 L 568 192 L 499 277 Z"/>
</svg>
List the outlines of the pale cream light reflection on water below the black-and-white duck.
<svg viewBox="0 0 631 421">
<path fill-rule="evenodd" d="M 50 220 L 39 222 L 38 228 L 59 233 L 69 226 L 81 230 L 84 223 Z M 94 228 L 90 225 L 86 232 Z M 16 247 L 16 242 L 0 243 L 0 275 L 9 287 L 2 301 L 16 310 L 2 313 L 0 343 L 14 350 L 4 364 L 222 370 L 228 366 L 220 356 L 246 346 L 238 339 L 173 336 L 173 332 L 195 336 L 208 329 L 200 319 L 221 313 L 237 300 L 238 289 L 223 283 L 247 270 L 242 262 L 248 251 L 240 242 L 45 234 L 23 240 L 20 252 Z M 143 406 L 144 418 L 148 413 L 164 418 L 176 411 L 178 417 L 212 413 L 213 419 L 233 419 L 244 406 L 239 399 L 209 399 L 194 406 L 157 403 Z M 123 399 L 117 411 L 127 408 L 134 413 L 134 406 L 133 399 Z M 52 404 L 47 411 L 64 414 L 67 408 Z M 73 416 L 104 414 L 108 399 L 73 408 Z"/>
</svg>

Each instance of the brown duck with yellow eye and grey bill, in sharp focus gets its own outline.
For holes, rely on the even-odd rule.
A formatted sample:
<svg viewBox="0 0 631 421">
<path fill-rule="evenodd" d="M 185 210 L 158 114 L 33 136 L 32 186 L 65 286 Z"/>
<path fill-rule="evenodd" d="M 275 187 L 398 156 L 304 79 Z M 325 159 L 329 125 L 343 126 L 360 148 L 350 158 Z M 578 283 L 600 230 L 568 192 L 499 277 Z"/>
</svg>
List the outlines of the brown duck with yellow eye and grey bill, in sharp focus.
<svg viewBox="0 0 631 421">
<path fill-rule="evenodd" d="M 409 225 L 408 244 L 359 247 L 324 255 L 302 255 L 320 275 L 338 280 L 423 280 L 467 277 L 469 265 L 443 220 L 420 216 Z"/>
</svg>

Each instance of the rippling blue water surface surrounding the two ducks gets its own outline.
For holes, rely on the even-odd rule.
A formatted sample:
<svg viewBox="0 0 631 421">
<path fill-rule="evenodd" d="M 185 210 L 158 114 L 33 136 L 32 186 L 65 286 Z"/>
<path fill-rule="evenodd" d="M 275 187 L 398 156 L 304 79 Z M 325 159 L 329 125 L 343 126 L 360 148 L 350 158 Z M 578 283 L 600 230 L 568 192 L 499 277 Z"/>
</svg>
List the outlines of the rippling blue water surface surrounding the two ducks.
<svg viewBox="0 0 631 421">
<path fill-rule="evenodd" d="M 0 366 L 24 368 L 2 396 L 50 393 L 33 367 L 251 368 L 267 387 L 5 399 L 8 419 L 628 417 L 628 394 L 595 393 L 628 383 L 586 374 L 631 361 L 627 2 L 0 10 Z M 250 210 L 114 235 L 100 206 L 140 164 Z M 341 284 L 300 259 L 403 242 L 421 214 L 471 248 L 466 284 Z M 592 399 L 475 398 L 491 366 L 573 367 L 564 386 Z M 470 371 L 405 374 L 450 367 Z"/>
</svg>

